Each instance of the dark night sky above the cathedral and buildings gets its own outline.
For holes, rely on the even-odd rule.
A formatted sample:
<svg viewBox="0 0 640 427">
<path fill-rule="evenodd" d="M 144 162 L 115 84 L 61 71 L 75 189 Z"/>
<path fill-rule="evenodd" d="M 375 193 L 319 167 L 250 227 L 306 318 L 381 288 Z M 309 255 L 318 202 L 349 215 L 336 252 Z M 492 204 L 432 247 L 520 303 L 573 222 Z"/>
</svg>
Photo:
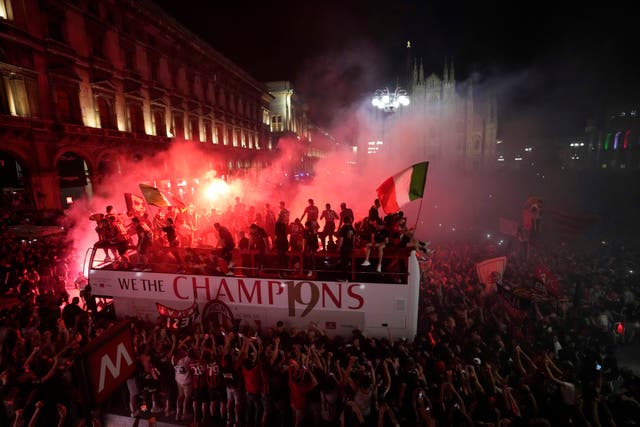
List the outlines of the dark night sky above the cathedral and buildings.
<svg viewBox="0 0 640 427">
<path fill-rule="evenodd" d="M 496 88 L 501 133 L 533 120 L 532 137 L 576 135 L 605 103 L 640 99 L 636 15 L 613 2 L 156 3 L 257 79 L 292 81 L 320 124 L 395 86 L 406 40 L 426 74 L 448 57 L 458 82 Z"/>
</svg>

